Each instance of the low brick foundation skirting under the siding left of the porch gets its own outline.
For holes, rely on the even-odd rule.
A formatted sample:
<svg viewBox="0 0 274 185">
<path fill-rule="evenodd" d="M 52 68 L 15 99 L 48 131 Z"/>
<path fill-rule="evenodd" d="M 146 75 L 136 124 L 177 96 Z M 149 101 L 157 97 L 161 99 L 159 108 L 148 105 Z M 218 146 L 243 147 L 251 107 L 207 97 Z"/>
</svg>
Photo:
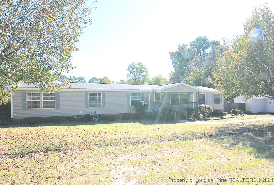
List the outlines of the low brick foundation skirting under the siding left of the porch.
<svg viewBox="0 0 274 185">
<path fill-rule="evenodd" d="M 115 119 L 129 119 L 134 118 L 136 113 L 123 113 L 123 114 L 98 114 L 99 120 L 108 120 L 108 121 L 114 121 Z M 74 115 L 74 116 L 44 116 L 44 117 L 38 117 L 40 123 L 46 123 L 46 122 L 56 122 L 58 118 L 65 117 L 68 121 L 81 121 L 84 115 Z M 12 123 L 18 124 L 18 123 L 28 123 L 28 120 L 30 118 L 13 118 Z M 91 120 L 93 121 L 93 120 Z"/>
</svg>

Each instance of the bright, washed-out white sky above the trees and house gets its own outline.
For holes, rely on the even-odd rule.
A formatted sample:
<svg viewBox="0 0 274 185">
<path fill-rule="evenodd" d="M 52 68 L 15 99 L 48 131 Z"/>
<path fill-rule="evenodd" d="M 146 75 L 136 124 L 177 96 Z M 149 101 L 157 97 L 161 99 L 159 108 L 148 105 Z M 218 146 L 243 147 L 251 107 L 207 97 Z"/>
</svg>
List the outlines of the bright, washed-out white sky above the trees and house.
<svg viewBox="0 0 274 185">
<path fill-rule="evenodd" d="M 88 3 L 92 3 L 89 1 Z M 173 71 L 169 52 L 198 36 L 222 41 L 244 32 L 243 23 L 264 2 L 274 1 L 97 1 L 92 25 L 76 43 L 67 76 L 127 79 L 131 62 L 142 62 L 150 78 Z"/>
</svg>

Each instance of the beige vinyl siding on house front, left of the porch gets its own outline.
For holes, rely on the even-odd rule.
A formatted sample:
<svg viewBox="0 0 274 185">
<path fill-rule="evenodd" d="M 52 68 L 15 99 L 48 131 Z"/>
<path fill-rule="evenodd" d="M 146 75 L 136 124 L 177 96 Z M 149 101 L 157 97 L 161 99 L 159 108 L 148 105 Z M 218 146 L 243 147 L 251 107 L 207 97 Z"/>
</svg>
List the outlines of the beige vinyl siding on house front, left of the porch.
<svg viewBox="0 0 274 185">
<path fill-rule="evenodd" d="M 89 107 L 85 108 L 85 93 L 91 91 L 61 91 L 59 95 L 59 109 L 43 109 L 42 99 L 40 109 L 22 109 L 22 92 L 40 92 L 43 91 L 21 91 L 13 95 L 13 118 L 28 118 L 31 116 L 77 116 L 85 114 L 119 114 L 134 113 L 135 107 L 128 106 L 127 93 L 144 93 L 144 101 L 149 102 L 149 92 L 104 92 L 105 107 Z M 152 93 L 151 93 L 152 94 Z M 153 99 L 151 99 L 153 102 Z M 149 108 L 148 108 L 149 110 Z M 82 111 L 82 113 L 79 113 Z"/>
</svg>

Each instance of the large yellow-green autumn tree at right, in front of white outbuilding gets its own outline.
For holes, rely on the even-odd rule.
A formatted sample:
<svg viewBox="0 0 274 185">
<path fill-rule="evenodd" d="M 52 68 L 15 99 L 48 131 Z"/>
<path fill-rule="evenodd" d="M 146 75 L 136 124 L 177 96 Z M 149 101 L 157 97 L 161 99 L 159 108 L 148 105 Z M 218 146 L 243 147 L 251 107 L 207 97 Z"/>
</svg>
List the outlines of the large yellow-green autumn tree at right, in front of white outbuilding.
<svg viewBox="0 0 274 185">
<path fill-rule="evenodd" d="M 244 34 L 225 40 L 213 76 L 227 97 L 274 97 L 274 15 L 266 4 L 255 8 L 244 24 Z"/>
</svg>

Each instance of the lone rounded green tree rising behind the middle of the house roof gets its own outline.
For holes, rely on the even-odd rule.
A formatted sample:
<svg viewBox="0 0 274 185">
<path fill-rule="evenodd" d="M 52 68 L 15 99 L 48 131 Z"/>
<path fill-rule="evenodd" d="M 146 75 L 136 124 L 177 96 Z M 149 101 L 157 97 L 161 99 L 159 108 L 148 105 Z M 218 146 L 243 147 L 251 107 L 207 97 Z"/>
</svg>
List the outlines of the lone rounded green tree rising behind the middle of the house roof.
<svg viewBox="0 0 274 185">
<path fill-rule="evenodd" d="M 148 70 L 142 62 L 131 62 L 127 71 L 128 84 L 149 84 Z"/>
</svg>

